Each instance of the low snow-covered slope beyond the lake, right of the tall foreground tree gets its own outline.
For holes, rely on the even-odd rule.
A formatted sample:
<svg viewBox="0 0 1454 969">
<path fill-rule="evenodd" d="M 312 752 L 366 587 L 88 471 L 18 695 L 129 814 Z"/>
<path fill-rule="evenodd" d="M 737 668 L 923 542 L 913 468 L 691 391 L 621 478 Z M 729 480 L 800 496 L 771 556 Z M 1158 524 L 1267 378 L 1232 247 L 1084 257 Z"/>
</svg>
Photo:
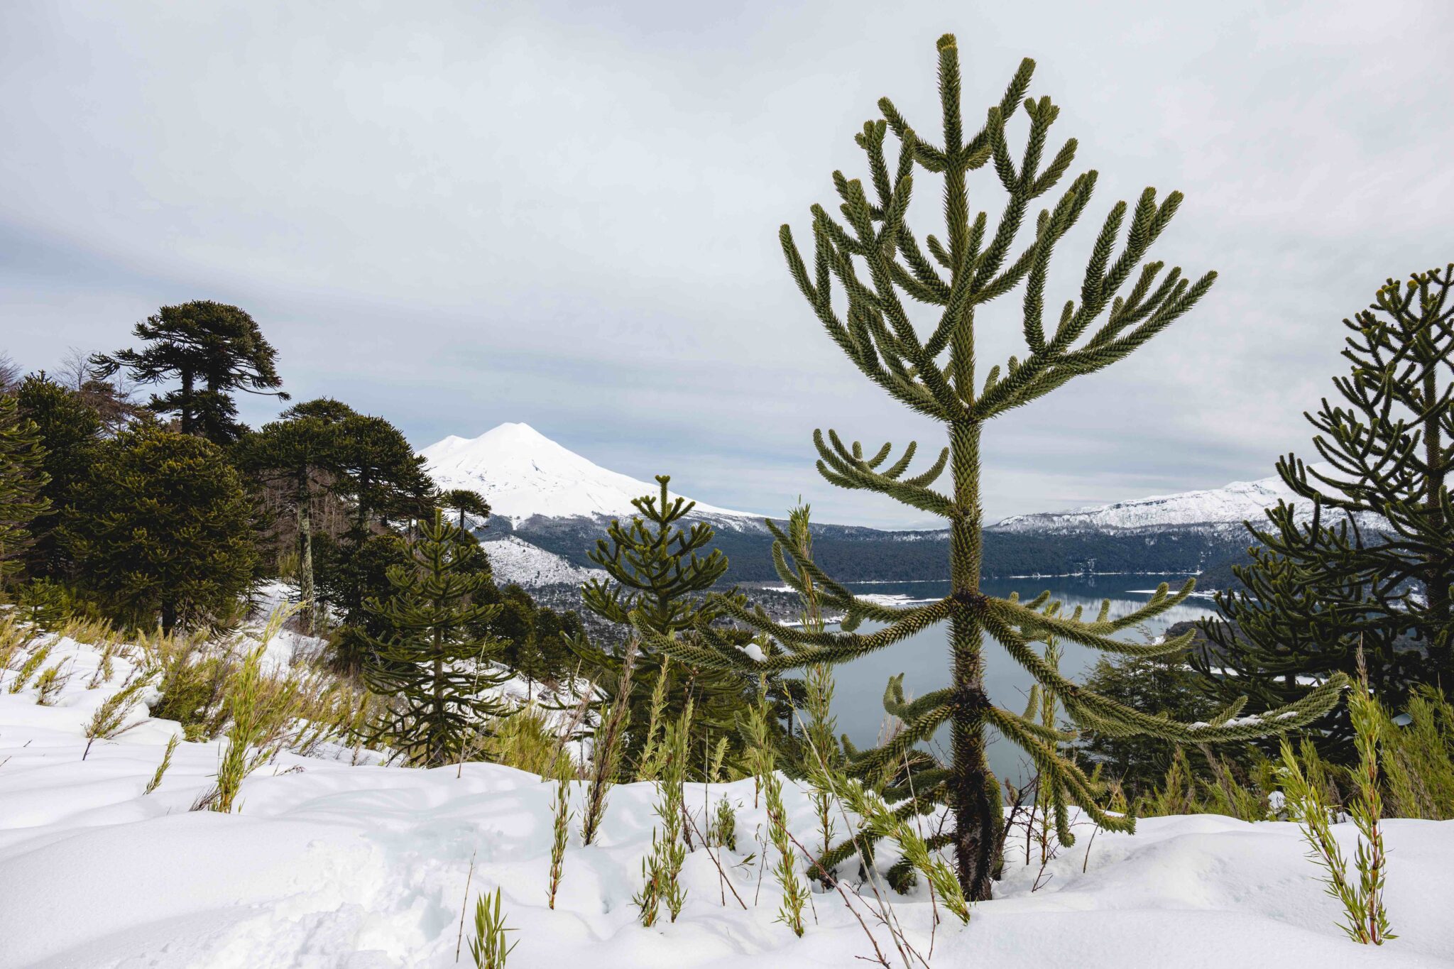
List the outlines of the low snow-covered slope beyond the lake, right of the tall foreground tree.
<svg viewBox="0 0 1454 969">
<path fill-rule="evenodd" d="M 1329 472 L 1329 465 L 1309 465 Z M 1070 511 L 1016 514 L 993 529 L 997 532 L 1066 532 L 1118 529 L 1172 529 L 1185 526 L 1240 526 L 1246 520 L 1259 522 L 1266 508 L 1278 501 L 1298 506 L 1300 517 L 1312 514 L 1312 506 L 1288 490 L 1277 475 L 1258 481 L 1233 481 L 1221 488 L 1152 495 L 1131 501 L 1117 501 Z"/>
</svg>

